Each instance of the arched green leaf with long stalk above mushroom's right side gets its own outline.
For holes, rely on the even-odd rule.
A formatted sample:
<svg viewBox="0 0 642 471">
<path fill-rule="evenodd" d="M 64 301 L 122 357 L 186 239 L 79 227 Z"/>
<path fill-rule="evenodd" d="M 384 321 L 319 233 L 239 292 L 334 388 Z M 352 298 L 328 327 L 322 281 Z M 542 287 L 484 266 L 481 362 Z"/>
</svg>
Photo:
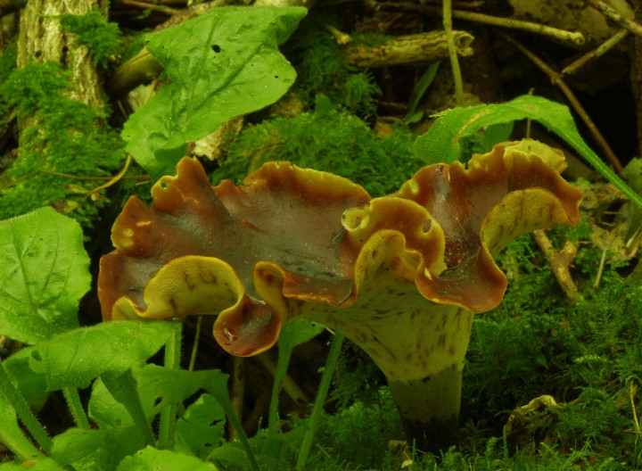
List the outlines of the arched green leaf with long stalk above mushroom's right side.
<svg viewBox="0 0 642 471">
<path fill-rule="evenodd" d="M 584 142 L 569 109 L 541 96 L 523 95 L 507 103 L 479 104 L 455 108 L 441 113 L 432 127 L 415 142 L 415 155 L 428 164 L 457 161 L 461 154 L 462 137 L 471 136 L 478 129 L 516 120 L 536 120 L 556 133 L 580 153 L 598 172 L 613 183 L 632 202 L 642 207 L 642 196 L 636 194 L 619 178 L 597 153 Z"/>
</svg>

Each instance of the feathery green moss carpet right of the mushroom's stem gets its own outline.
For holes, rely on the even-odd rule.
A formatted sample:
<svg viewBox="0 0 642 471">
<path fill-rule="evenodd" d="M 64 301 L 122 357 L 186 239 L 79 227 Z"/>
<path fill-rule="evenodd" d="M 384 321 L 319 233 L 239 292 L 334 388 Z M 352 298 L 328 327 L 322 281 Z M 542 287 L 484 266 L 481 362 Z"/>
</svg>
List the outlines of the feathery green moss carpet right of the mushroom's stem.
<svg viewBox="0 0 642 471">
<path fill-rule="evenodd" d="M 534 450 L 567 465 L 639 467 L 630 391 L 642 383 L 642 286 L 607 266 L 604 287 L 592 287 L 598 254 L 587 220 L 550 234 L 557 246 L 579 247 L 573 275 L 581 299 L 564 298 L 531 236 L 511 244 L 500 258 L 510 274 L 505 300 L 473 322 L 463 416 L 498 436 L 514 408 L 549 394 L 561 404 L 542 413 L 556 442 L 547 448 L 534 434 Z"/>
</svg>

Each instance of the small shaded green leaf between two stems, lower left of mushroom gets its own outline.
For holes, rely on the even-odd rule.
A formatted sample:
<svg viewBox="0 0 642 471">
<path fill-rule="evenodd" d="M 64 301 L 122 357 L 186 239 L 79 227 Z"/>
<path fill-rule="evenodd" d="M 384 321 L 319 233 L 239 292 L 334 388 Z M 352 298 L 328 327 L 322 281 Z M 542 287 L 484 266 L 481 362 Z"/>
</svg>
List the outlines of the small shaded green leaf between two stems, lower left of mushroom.
<svg viewBox="0 0 642 471">
<path fill-rule="evenodd" d="M 225 436 L 225 414 L 210 394 L 202 394 L 177 422 L 177 451 L 205 459 Z"/>
</svg>

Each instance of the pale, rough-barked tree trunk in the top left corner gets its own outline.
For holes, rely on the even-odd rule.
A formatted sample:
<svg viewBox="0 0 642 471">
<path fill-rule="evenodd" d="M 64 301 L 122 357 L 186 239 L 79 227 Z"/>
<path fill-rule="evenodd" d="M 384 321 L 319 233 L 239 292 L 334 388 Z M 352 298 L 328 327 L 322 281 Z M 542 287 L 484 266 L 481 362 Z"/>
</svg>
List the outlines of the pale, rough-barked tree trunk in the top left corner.
<svg viewBox="0 0 642 471">
<path fill-rule="evenodd" d="M 71 72 L 70 98 L 101 107 L 101 87 L 89 49 L 79 45 L 73 34 L 63 31 L 57 17 L 82 15 L 95 9 L 106 14 L 107 4 L 107 0 L 29 0 L 21 10 L 18 67 L 30 61 L 58 62 Z"/>
</svg>

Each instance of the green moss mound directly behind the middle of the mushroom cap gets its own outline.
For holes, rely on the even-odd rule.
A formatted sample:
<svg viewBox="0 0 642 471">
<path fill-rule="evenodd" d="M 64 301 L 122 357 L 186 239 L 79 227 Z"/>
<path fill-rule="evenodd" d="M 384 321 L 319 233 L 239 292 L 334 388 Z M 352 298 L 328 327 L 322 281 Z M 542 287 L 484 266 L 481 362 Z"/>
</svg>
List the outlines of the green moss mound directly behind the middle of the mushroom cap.
<svg viewBox="0 0 642 471">
<path fill-rule="evenodd" d="M 332 110 L 324 99 L 317 112 L 246 128 L 230 145 L 226 161 L 212 179 L 240 182 L 266 161 L 292 161 L 350 178 L 371 195 L 381 196 L 398 190 L 422 166 L 412 156 L 412 145 L 407 129 L 378 138 L 363 121 Z"/>
</svg>

